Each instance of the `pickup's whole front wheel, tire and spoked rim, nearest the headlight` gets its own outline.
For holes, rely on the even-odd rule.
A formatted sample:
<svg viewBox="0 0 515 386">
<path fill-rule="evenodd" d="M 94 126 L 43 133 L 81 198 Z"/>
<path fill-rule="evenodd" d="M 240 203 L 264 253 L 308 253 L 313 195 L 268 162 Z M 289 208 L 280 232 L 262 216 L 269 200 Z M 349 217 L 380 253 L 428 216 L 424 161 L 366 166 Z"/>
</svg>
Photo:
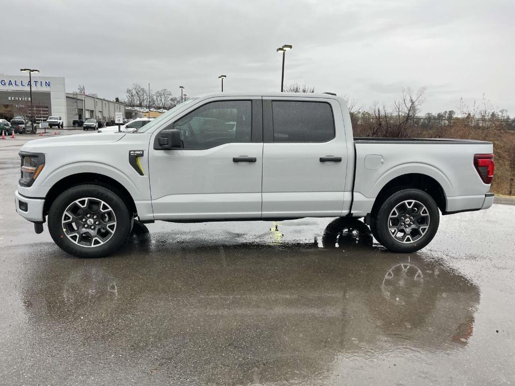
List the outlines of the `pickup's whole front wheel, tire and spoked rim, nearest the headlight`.
<svg viewBox="0 0 515 386">
<path fill-rule="evenodd" d="M 99 185 L 74 186 L 48 212 L 48 230 L 63 251 L 77 257 L 104 257 L 125 241 L 131 216 L 123 200 Z"/>
</svg>

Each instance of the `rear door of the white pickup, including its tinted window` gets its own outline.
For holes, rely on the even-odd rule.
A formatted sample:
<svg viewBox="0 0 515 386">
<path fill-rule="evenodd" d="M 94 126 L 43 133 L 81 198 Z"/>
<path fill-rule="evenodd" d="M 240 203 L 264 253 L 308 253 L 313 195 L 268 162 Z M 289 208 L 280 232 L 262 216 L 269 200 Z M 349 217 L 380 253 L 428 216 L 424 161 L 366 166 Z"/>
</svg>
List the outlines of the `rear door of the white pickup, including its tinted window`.
<svg viewBox="0 0 515 386">
<path fill-rule="evenodd" d="M 340 216 L 347 149 L 338 101 L 264 97 L 263 118 L 263 217 Z"/>
</svg>

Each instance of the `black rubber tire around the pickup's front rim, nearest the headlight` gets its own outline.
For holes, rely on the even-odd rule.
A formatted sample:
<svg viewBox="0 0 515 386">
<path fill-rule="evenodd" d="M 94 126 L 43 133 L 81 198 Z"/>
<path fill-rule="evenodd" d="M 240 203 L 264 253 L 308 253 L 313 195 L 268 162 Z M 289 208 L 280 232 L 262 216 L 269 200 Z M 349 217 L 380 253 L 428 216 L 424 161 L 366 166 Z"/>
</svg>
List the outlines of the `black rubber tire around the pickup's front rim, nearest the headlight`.
<svg viewBox="0 0 515 386">
<path fill-rule="evenodd" d="M 106 203 L 112 213 L 114 213 L 115 229 L 107 241 L 102 244 L 94 246 L 81 245 L 68 238 L 63 230 L 64 225 L 62 218 L 65 210 L 74 201 L 84 198 L 101 200 Z M 85 209 L 79 211 L 79 217 L 84 215 L 82 213 L 83 210 Z M 96 213 L 100 213 L 98 209 Z M 131 217 L 127 206 L 115 191 L 104 186 L 93 184 L 77 185 L 62 192 L 50 206 L 48 212 L 48 230 L 58 247 L 73 256 L 104 257 L 116 251 L 125 241 L 131 230 Z M 98 232 L 98 230 L 96 232 Z M 92 243 L 93 242 L 94 240 Z"/>
</svg>

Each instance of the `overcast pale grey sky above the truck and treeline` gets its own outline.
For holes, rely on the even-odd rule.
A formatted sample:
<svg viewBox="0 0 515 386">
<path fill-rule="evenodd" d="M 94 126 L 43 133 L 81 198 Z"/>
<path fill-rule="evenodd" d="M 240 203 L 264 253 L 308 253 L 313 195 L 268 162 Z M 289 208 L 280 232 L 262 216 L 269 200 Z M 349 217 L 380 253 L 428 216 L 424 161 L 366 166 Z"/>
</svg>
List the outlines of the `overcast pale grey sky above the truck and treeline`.
<svg viewBox="0 0 515 386">
<path fill-rule="evenodd" d="M 123 98 L 133 82 L 190 95 L 279 91 L 298 82 L 389 106 L 426 87 L 423 112 L 515 115 L 513 0 L 5 1 L 0 73 L 64 76 L 71 92 Z M 8 17 L 6 17 L 8 16 Z"/>
</svg>

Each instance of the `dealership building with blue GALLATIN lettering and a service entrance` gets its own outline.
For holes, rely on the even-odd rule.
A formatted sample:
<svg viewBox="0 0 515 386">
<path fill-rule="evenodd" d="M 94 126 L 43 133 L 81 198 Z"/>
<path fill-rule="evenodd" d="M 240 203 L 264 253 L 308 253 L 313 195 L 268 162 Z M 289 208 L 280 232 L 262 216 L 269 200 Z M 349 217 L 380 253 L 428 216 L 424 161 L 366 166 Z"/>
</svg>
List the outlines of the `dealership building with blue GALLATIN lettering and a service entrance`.
<svg viewBox="0 0 515 386">
<path fill-rule="evenodd" d="M 63 77 L 32 76 L 32 108 L 35 118 L 60 116 L 65 126 L 74 119 L 95 118 L 114 120 L 116 112 L 125 112 L 123 103 L 90 95 L 66 93 Z M 30 112 L 30 82 L 28 76 L 0 75 L 0 118 L 7 120 Z"/>
</svg>

